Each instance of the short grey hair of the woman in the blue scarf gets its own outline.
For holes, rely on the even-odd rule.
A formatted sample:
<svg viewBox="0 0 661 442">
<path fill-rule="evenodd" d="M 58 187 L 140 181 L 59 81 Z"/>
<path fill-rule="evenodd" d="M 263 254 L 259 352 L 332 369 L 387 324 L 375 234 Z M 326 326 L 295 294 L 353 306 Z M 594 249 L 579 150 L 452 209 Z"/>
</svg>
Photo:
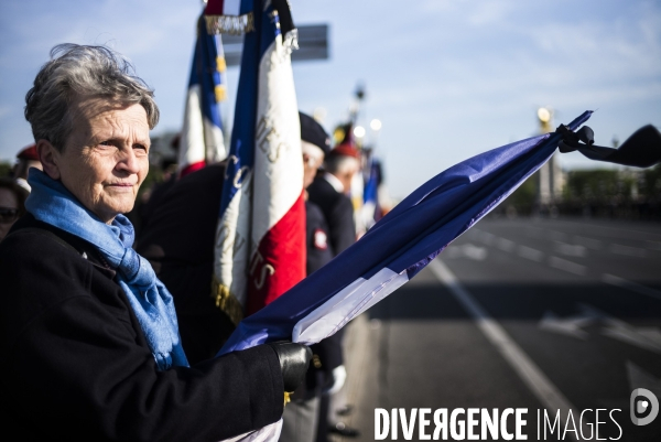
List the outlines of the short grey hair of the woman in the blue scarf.
<svg viewBox="0 0 661 442">
<path fill-rule="evenodd" d="M 102 98 L 111 105 L 141 105 L 149 128 L 159 122 L 154 93 L 136 75 L 131 63 L 105 46 L 58 44 L 25 95 L 25 119 L 34 140 L 62 151 L 72 130 L 71 105 L 77 98 Z"/>
</svg>

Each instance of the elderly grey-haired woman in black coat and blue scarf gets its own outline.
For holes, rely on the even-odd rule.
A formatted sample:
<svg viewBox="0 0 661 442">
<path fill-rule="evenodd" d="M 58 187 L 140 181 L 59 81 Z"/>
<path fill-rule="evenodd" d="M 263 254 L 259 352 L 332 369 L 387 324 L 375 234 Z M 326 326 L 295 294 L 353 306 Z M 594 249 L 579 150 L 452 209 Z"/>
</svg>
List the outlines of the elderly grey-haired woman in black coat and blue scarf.
<svg viewBox="0 0 661 442">
<path fill-rule="evenodd" d="M 310 349 L 188 367 L 172 297 L 133 251 L 153 93 L 106 47 L 55 46 L 26 95 L 43 172 L 0 244 L 3 432 L 21 440 L 217 441 L 275 422 Z M 12 431 L 14 430 L 14 431 Z"/>
</svg>

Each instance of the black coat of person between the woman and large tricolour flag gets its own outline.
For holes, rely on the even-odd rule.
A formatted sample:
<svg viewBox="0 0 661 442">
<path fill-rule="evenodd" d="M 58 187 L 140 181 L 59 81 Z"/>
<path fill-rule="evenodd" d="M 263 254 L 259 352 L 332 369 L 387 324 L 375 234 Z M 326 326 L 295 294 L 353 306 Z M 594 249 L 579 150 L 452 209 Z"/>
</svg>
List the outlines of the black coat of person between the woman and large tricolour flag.
<svg viewBox="0 0 661 442">
<path fill-rule="evenodd" d="M 149 259 L 174 298 L 188 360 L 213 357 L 234 332 L 212 298 L 214 238 L 225 163 L 184 176 L 152 208 L 136 250 Z"/>
</svg>

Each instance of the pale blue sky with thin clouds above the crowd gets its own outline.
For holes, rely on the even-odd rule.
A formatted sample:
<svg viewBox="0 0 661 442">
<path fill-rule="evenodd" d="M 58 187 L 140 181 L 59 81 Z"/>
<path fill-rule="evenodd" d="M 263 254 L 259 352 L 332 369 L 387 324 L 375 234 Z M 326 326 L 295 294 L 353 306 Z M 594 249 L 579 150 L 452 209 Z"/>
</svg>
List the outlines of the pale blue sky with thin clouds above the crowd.
<svg viewBox="0 0 661 442">
<path fill-rule="evenodd" d="M 661 2 L 658 0 L 290 0 L 297 24 L 329 25 L 330 55 L 294 64 L 299 107 L 323 109 L 330 132 L 365 85 L 359 123 L 401 198 L 448 166 L 537 134 L 537 109 L 554 126 L 584 110 L 596 142 L 661 127 Z M 199 0 L 2 0 L 0 160 L 31 143 L 24 96 L 51 47 L 106 44 L 155 89 L 161 122 L 175 131 Z M 238 67 L 228 72 L 231 127 Z M 564 169 L 613 168 L 578 153 Z"/>
</svg>

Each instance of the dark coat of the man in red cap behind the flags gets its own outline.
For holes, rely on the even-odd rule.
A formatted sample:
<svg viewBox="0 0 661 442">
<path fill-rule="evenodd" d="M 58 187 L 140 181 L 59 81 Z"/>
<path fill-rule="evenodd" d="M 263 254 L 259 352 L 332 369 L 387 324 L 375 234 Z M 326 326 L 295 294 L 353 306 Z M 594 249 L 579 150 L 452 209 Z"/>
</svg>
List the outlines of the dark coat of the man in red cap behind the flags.
<svg viewBox="0 0 661 442">
<path fill-rule="evenodd" d="M 316 204 L 328 224 L 328 242 L 333 256 L 356 242 L 356 222 L 351 200 L 337 192 L 324 177 L 317 176 L 307 187 L 310 201 Z"/>
</svg>

